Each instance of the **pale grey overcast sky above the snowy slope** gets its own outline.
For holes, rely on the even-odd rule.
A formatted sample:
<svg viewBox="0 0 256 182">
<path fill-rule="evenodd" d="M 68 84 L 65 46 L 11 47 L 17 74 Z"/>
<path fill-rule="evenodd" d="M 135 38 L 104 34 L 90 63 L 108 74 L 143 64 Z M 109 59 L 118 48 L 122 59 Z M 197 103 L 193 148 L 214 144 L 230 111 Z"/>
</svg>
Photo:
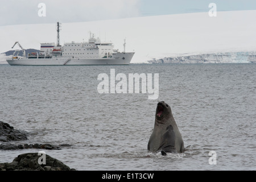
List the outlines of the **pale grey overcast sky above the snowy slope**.
<svg viewBox="0 0 256 182">
<path fill-rule="evenodd" d="M 200 13 L 209 11 L 209 3 L 217 11 L 256 10 L 255 0 L 1 0 L 0 26 Z"/>
</svg>

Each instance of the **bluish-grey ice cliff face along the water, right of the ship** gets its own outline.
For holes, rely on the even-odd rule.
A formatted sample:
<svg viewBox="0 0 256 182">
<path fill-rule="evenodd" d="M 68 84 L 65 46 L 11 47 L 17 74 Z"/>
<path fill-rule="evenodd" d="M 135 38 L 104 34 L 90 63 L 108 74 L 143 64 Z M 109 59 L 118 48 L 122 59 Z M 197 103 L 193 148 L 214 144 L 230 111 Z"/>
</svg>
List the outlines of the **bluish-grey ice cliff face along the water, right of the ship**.
<svg viewBox="0 0 256 182">
<path fill-rule="evenodd" d="M 256 51 L 217 52 L 188 56 L 172 56 L 149 60 L 148 63 L 256 63 Z"/>
</svg>

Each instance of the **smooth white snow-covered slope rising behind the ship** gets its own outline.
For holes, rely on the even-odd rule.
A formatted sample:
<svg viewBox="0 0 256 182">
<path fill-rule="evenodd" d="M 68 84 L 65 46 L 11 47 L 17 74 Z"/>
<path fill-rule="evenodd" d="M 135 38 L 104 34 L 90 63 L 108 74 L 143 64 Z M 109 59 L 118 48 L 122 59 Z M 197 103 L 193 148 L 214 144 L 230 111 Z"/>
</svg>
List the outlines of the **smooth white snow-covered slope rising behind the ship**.
<svg viewBox="0 0 256 182">
<path fill-rule="evenodd" d="M 180 55 L 185 61 L 188 53 L 197 55 L 197 58 L 189 57 L 190 62 L 194 59 L 201 63 L 205 59 L 207 62 L 233 63 L 233 53 L 218 57 L 218 52 L 238 52 L 235 61 L 246 61 L 246 56 L 239 60 L 239 52 L 256 51 L 255 16 L 256 10 L 218 11 L 216 17 L 210 17 L 206 12 L 62 23 L 60 43 L 87 41 L 91 31 L 102 41 L 111 40 L 119 51 L 123 51 L 126 39 L 126 52 L 135 52 L 131 63 Z M 40 43 L 56 42 L 56 24 L 0 26 L 0 35 L 0 53 L 9 51 L 16 41 L 25 49 L 40 49 Z"/>
</svg>

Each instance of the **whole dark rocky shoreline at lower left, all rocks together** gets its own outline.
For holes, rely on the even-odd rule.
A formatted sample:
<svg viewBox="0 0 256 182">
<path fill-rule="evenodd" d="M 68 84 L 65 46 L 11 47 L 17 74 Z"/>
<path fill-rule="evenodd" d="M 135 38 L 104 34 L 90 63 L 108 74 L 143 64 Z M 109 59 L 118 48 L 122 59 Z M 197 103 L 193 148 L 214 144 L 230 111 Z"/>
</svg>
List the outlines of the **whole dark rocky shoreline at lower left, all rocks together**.
<svg viewBox="0 0 256 182">
<path fill-rule="evenodd" d="M 20 150 L 38 148 L 45 150 L 61 150 L 62 147 L 70 147 L 69 144 L 12 144 L 12 141 L 27 140 L 29 133 L 14 129 L 8 123 L 0 121 L 0 150 Z M 44 161 L 44 163 L 41 162 Z M 75 171 L 57 159 L 49 155 L 38 153 L 26 153 L 18 155 L 11 163 L 0 163 L 0 171 Z"/>
</svg>

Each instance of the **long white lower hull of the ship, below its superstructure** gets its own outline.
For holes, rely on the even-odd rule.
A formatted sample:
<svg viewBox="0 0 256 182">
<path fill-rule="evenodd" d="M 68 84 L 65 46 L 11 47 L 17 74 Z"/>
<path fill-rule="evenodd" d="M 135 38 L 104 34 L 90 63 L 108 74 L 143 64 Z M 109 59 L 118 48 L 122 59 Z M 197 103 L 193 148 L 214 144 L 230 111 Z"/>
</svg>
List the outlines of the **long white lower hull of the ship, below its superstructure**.
<svg viewBox="0 0 256 182">
<path fill-rule="evenodd" d="M 117 53 L 112 58 L 82 59 L 56 57 L 55 59 L 8 59 L 10 65 L 129 65 L 134 52 Z"/>
</svg>

